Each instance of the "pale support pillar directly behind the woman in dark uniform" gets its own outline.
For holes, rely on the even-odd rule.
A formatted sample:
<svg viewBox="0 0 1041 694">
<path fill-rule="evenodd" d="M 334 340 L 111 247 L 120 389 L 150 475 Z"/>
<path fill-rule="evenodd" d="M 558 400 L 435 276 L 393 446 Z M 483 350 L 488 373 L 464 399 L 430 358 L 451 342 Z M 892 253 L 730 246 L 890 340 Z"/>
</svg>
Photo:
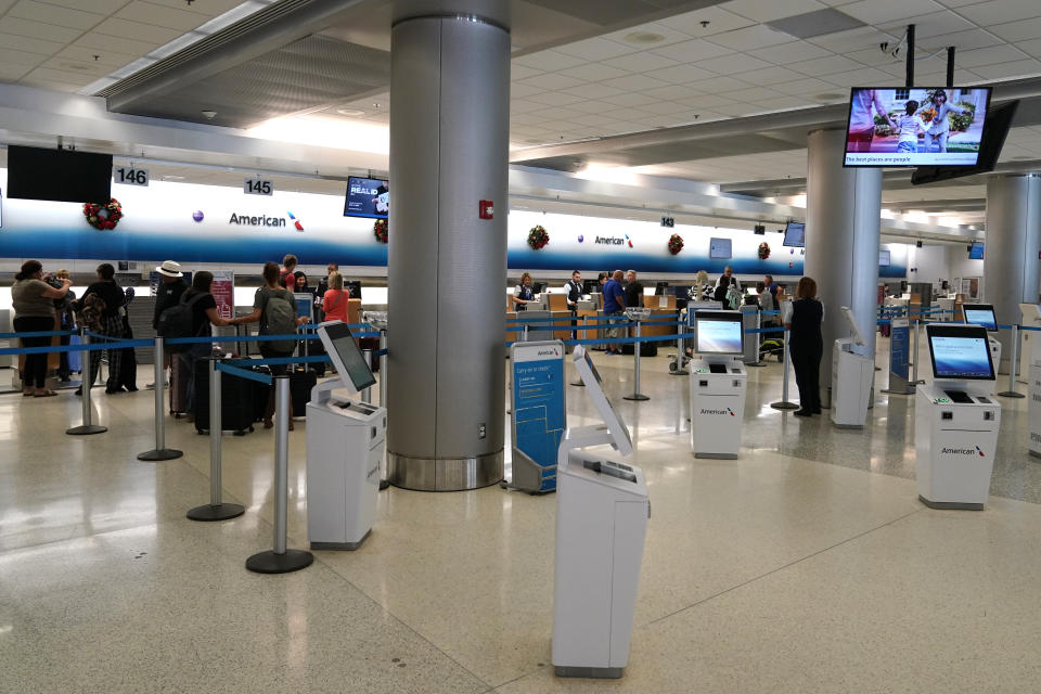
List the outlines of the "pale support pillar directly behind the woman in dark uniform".
<svg viewBox="0 0 1041 694">
<path fill-rule="evenodd" d="M 806 172 L 806 274 L 824 304 L 821 402 L 831 406 L 832 345 L 848 337 L 839 307 L 848 306 L 874 350 L 878 286 L 882 169 L 844 168 L 846 133 L 814 130 Z"/>
</svg>

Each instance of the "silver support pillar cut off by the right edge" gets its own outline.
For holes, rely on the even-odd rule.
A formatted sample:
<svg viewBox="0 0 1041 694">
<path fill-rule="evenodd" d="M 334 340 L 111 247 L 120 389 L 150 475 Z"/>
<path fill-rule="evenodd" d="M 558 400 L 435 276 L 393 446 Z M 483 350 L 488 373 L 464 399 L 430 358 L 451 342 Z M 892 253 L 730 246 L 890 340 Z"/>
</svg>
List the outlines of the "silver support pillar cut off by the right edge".
<svg viewBox="0 0 1041 694">
<path fill-rule="evenodd" d="M 1036 304 L 1041 252 L 1041 175 L 987 179 L 984 299 L 1003 325 L 1019 322 L 1019 304 Z M 1013 356 L 1011 332 L 1001 331 L 1001 371 Z M 997 364 L 995 364 L 997 365 Z"/>
</svg>

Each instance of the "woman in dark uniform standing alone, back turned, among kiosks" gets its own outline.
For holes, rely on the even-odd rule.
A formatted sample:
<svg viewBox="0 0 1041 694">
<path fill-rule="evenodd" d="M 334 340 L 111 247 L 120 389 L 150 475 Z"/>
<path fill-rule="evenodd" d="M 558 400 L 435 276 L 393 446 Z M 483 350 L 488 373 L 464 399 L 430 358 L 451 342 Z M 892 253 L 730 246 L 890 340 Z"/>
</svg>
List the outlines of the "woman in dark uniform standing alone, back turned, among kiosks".
<svg viewBox="0 0 1041 694">
<path fill-rule="evenodd" d="M 821 413 L 821 357 L 824 355 L 824 338 L 821 322 L 824 306 L 817 299 L 817 282 L 802 278 L 795 288 L 791 322 L 785 323 L 788 334 L 788 354 L 795 368 L 795 383 L 799 387 L 799 404 L 796 416 Z"/>
</svg>

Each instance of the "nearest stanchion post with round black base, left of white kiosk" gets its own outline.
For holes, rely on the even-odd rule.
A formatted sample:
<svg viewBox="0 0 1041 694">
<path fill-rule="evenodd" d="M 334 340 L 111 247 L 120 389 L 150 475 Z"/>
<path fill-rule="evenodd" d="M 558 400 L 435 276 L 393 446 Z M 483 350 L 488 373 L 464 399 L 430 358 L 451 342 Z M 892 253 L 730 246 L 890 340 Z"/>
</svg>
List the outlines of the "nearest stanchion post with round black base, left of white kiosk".
<svg viewBox="0 0 1041 694">
<path fill-rule="evenodd" d="M 246 560 L 246 568 L 258 574 L 287 574 L 306 568 L 314 555 L 287 550 L 286 505 L 290 494 L 290 377 L 274 378 L 274 550 L 258 552 Z"/>
</svg>

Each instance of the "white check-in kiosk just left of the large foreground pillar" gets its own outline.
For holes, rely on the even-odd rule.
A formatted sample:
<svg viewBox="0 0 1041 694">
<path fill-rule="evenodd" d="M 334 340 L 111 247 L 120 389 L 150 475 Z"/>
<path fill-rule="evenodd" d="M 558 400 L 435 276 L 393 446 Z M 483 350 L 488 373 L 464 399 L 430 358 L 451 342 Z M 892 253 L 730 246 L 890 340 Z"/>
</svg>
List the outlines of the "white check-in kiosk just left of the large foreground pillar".
<svg viewBox="0 0 1041 694">
<path fill-rule="evenodd" d="M 314 386 L 307 403 L 307 535 L 312 550 L 357 550 L 376 514 L 387 411 L 334 395 L 376 378 L 346 323 L 322 323 L 318 334 L 339 377 Z"/>
</svg>

